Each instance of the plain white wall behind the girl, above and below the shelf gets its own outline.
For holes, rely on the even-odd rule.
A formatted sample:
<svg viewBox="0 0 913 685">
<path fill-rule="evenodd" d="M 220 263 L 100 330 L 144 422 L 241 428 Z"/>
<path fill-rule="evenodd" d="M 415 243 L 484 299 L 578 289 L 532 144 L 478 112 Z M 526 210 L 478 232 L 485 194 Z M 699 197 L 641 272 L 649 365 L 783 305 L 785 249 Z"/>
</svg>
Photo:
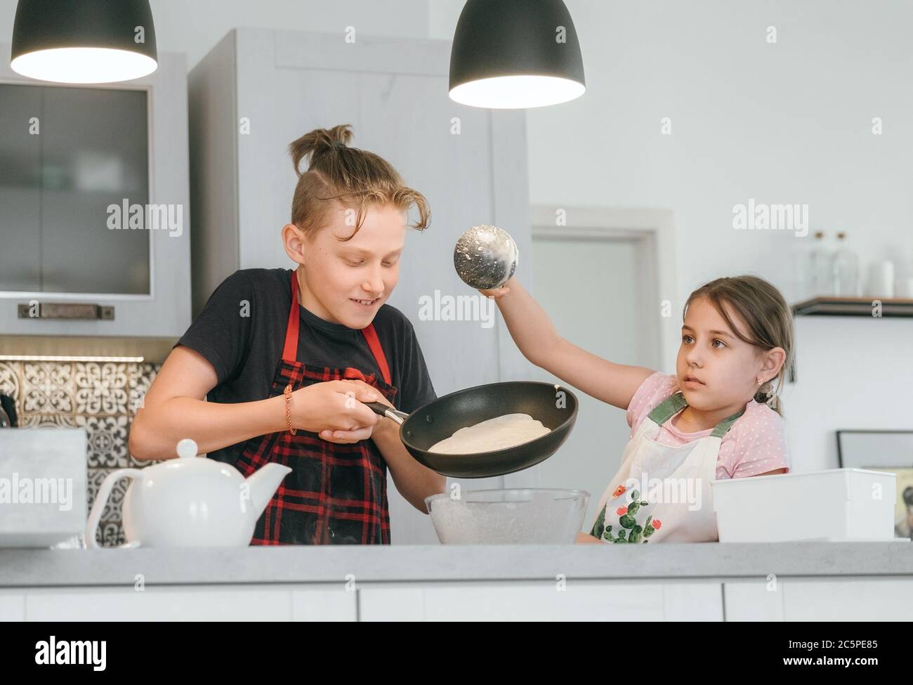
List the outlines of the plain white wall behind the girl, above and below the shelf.
<svg viewBox="0 0 913 685">
<path fill-rule="evenodd" d="M 732 205 L 749 197 L 808 204 L 812 231 L 846 230 L 864 261 L 893 256 L 910 272 L 913 5 L 567 5 L 587 92 L 528 112 L 530 202 L 672 209 L 677 317 L 701 283 L 742 272 L 795 299 L 792 258 L 810 238 L 734 230 Z M 430 4 L 432 37 L 453 35 L 461 6 Z M 796 470 L 836 467 L 837 428 L 913 428 L 913 320 L 800 317 L 796 331 L 798 383 L 782 395 Z"/>
</svg>

